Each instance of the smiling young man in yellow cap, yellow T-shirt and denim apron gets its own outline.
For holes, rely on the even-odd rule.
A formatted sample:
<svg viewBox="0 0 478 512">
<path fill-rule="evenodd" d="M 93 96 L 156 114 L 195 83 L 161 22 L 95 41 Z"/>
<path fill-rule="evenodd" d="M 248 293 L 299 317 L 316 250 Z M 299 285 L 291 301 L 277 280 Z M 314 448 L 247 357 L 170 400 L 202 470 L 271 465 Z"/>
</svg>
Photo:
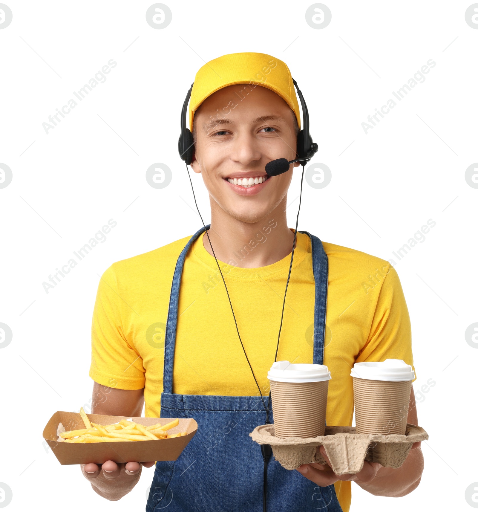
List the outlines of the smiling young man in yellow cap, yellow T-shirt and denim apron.
<svg viewBox="0 0 478 512">
<path fill-rule="evenodd" d="M 156 464 L 149 512 L 258 512 L 264 463 L 249 433 L 266 419 L 257 388 L 267 403 L 294 239 L 287 191 L 300 165 L 274 177 L 265 172 L 271 160 L 296 158 L 300 110 L 288 67 L 258 53 L 208 62 L 194 80 L 189 125 L 191 167 L 209 193 L 209 239 L 235 318 L 204 228 L 114 263 L 100 280 L 93 315 L 94 412 L 139 416 L 144 400 L 146 416 L 197 420 L 179 459 Z M 317 327 L 320 318 L 325 329 Z M 351 367 L 386 358 L 412 365 L 396 271 L 379 258 L 297 233 L 277 360 L 327 365 L 327 424 L 351 425 Z M 408 422 L 418 423 L 413 390 Z M 404 496 L 422 470 L 419 443 L 398 469 L 365 462 L 360 473 L 340 477 L 328 465 L 287 471 L 271 459 L 267 506 L 348 511 L 352 480 L 375 495 Z M 82 471 L 98 494 L 118 500 L 138 481 L 141 464 L 108 461 Z"/>
</svg>

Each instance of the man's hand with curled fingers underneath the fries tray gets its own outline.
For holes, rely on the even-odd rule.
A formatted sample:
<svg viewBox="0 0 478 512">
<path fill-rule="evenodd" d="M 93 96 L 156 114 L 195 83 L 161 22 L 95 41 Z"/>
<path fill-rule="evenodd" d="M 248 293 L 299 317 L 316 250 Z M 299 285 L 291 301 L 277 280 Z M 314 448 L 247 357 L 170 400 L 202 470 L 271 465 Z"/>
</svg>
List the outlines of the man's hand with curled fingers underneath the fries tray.
<svg viewBox="0 0 478 512">
<path fill-rule="evenodd" d="M 154 462 L 82 464 L 81 471 L 97 494 L 107 500 L 117 501 L 128 494 L 138 483 L 141 466 L 151 467 Z"/>
</svg>

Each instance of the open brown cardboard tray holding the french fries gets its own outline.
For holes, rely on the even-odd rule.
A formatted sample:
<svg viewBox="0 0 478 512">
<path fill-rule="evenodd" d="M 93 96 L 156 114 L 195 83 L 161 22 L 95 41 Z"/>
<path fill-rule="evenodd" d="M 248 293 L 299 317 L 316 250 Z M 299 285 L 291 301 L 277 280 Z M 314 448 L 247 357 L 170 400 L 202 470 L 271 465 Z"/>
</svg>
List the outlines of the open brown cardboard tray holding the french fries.
<svg viewBox="0 0 478 512">
<path fill-rule="evenodd" d="M 105 416 L 102 414 L 87 414 L 90 421 L 101 425 L 118 423 L 131 416 Z M 144 426 L 165 424 L 176 418 L 131 418 L 135 423 Z M 85 425 L 78 413 L 57 411 L 48 421 L 43 431 L 43 437 L 52 449 L 60 464 L 102 464 L 107 460 L 114 462 L 155 462 L 158 460 L 176 460 L 185 449 L 187 443 L 198 430 L 198 423 L 192 418 L 179 418 L 179 425 L 168 430 L 168 434 L 187 432 L 186 436 L 171 439 L 148 441 L 117 441 L 108 443 L 66 443 L 57 441 L 58 424 L 65 430 L 84 429 Z"/>
</svg>

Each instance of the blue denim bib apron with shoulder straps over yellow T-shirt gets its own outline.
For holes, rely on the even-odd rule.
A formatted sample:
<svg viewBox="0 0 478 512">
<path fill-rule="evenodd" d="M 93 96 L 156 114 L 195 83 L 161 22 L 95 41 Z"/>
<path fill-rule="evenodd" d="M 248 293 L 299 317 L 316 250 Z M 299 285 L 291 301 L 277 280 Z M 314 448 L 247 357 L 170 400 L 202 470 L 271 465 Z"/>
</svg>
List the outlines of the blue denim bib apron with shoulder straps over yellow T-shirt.
<svg viewBox="0 0 478 512">
<path fill-rule="evenodd" d="M 261 397 L 179 395 L 172 390 L 181 274 L 189 248 L 203 232 L 204 227 L 190 238 L 179 255 L 173 275 L 165 333 L 164 391 L 161 393 L 161 417 L 194 418 L 198 430 L 176 461 L 156 463 L 146 512 L 164 508 L 171 512 L 263 512 L 264 461 L 260 446 L 249 437 L 257 425 L 266 422 Z M 322 242 L 307 231 L 301 232 L 312 240 L 315 279 L 313 362 L 321 365 L 328 259 Z M 236 341 L 239 343 L 235 339 L 231 343 Z M 271 365 L 272 362 L 271 359 Z M 269 396 L 263 398 L 267 407 Z M 317 509 L 342 512 L 334 485 L 319 487 L 298 471 L 284 469 L 271 457 L 267 476 L 268 512 Z"/>
</svg>

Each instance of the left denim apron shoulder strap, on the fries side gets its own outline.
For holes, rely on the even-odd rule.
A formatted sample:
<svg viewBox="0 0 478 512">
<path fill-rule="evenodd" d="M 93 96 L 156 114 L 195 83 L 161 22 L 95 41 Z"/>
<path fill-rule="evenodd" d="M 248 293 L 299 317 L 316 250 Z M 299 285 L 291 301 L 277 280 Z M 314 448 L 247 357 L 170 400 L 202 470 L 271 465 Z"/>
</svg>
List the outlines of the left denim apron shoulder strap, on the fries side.
<svg viewBox="0 0 478 512">
<path fill-rule="evenodd" d="M 211 225 L 208 224 L 206 229 Z M 169 296 L 168 319 L 166 322 L 166 332 L 164 335 L 164 373 L 163 373 L 163 391 L 164 393 L 172 393 L 172 369 L 175 358 L 176 331 L 178 328 L 178 306 L 179 306 L 179 290 L 181 287 L 181 275 L 183 274 L 184 260 L 189 248 L 194 241 L 205 231 L 204 226 L 196 231 L 189 239 L 184 249 L 179 255 L 176 263 L 175 273 L 172 276 L 171 294 Z"/>
</svg>

